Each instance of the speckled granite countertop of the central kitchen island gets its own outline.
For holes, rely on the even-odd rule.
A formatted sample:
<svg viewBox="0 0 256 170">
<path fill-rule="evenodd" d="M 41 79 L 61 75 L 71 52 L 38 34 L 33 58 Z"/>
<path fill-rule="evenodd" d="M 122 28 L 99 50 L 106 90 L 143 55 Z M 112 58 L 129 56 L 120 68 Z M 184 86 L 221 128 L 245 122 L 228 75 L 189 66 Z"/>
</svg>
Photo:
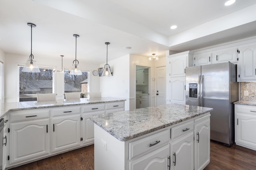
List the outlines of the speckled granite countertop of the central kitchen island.
<svg viewBox="0 0 256 170">
<path fill-rule="evenodd" d="M 93 115 L 90 119 L 119 141 L 128 141 L 212 110 L 208 107 L 167 104 L 132 111 Z"/>
</svg>

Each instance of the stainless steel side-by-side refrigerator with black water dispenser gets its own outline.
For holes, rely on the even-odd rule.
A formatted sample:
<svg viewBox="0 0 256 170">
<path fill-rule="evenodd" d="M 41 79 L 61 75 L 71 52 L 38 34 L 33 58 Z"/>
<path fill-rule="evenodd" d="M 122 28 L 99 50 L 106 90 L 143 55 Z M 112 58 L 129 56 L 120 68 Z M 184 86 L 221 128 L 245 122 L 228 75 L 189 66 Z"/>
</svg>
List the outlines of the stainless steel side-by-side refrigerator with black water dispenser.
<svg viewBox="0 0 256 170">
<path fill-rule="evenodd" d="M 236 65 L 218 63 L 186 68 L 186 104 L 211 107 L 210 139 L 234 143 L 234 104 L 238 100 Z"/>
</svg>

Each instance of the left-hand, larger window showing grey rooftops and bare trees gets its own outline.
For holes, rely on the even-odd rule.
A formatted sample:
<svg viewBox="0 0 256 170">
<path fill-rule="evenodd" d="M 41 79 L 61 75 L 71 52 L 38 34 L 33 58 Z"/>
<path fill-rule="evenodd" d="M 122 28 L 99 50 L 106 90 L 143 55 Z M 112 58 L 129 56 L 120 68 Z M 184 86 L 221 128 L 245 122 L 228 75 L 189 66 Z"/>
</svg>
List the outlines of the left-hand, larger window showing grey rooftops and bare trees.
<svg viewBox="0 0 256 170">
<path fill-rule="evenodd" d="M 52 93 L 52 69 L 40 68 L 40 72 L 22 72 L 20 66 L 20 102 L 36 101 L 37 93 Z"/>
</svg>

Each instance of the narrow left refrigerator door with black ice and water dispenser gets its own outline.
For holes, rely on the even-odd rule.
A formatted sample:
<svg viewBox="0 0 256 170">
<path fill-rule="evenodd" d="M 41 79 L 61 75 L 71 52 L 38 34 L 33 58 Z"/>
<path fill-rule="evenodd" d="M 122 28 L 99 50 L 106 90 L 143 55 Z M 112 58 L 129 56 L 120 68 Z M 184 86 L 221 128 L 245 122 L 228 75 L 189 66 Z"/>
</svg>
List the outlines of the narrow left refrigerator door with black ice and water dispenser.
<svg viewBox="0 0 256 170">
<path fill-rule="evenodd" d="M 186 104 L 200 106 L 201 66 L 186 68 Z"/>
</svg>

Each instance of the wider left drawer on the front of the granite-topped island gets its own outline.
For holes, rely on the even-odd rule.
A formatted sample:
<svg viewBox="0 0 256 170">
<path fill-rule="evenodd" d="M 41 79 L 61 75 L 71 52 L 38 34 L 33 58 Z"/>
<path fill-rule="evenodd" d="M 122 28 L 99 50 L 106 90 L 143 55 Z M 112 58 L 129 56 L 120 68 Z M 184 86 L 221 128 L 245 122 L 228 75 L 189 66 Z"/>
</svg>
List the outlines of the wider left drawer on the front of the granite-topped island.
<svg viewBox="0 0 256 170">
<path fill-rule="evenodd" d="M 135 156 L 156 149 L 162 144 L 168 143 L 170 140 L 170 130 L 164 130 L 154 135 L 144 137 L 137 141 L 129 143 L 129 158 L 130 160 Z"/>
</svg>

